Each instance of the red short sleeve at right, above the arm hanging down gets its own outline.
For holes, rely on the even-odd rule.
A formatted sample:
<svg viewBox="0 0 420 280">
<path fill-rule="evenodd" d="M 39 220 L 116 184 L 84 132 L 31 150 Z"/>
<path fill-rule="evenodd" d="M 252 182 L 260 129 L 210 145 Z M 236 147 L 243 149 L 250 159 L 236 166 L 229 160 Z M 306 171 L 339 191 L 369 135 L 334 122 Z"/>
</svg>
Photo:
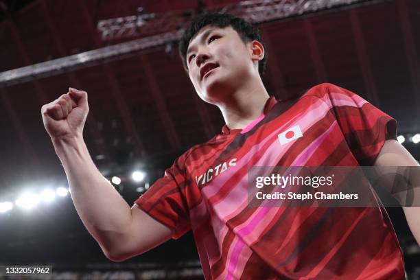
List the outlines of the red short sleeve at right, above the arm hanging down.
<svg viewBox="0 0 420 280">
<path fill-rule="evenodd" d="M 397 139 L 397 121 L 347 89 L 323 86 L 355 159 L 362 166 L 373 165 L 385 141 Z"/>
</svg>

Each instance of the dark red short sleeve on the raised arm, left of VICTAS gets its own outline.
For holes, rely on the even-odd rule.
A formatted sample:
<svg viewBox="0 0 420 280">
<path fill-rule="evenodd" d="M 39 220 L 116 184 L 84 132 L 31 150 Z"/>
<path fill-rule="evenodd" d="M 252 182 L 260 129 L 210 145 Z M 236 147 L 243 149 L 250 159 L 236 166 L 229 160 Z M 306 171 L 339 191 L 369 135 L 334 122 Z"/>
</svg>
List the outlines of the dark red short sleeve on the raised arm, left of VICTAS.
<svg viewBox="0 0 420 280">
<path fill-rule="evenodd" d="M 183 156 L 176 159 L 165 174 L 140 196 L 135 204 L 154 220 L 172 229 L 172 238 L 178 239 L 191 229 L 189 209 L 185 200 L 185 165 Z"/>
</svg>

